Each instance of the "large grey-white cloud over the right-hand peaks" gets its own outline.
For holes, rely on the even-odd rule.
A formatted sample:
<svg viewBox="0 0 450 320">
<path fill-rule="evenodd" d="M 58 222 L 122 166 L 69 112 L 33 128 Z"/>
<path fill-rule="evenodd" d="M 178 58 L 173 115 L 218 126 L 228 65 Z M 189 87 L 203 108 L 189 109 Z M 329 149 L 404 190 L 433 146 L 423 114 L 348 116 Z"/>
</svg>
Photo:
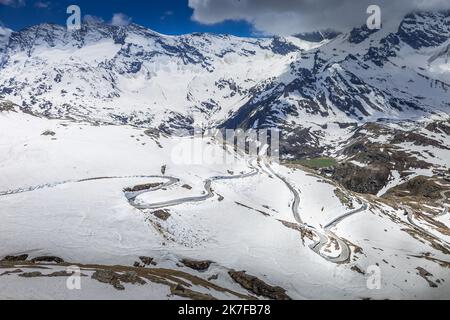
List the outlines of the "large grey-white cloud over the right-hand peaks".
<svg viewBox="0 0 450 320">
<path fill-rule="evenodd" d="M 360 26 L 371 4 L 380 6 L 383 23 L 413 10 L 450 9 L 448 0 L 189 0 L 196 22 L 246 21 L 258 33 L 279 35 Z"/>
</svg>

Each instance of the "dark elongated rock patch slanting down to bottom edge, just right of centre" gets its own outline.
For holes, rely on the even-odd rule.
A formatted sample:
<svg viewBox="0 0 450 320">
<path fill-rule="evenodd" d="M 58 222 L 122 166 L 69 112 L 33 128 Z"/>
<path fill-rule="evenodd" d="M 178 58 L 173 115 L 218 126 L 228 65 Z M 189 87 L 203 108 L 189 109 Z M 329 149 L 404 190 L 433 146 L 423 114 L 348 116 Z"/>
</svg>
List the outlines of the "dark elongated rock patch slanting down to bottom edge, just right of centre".
<svg viewBox="0 0 450 320">
<path fill-rule="evenodd" d="M 232 270 L 229 271 L 228 274 L 243 288 L 258 296 L 267 297 L 272 300 L 292 300 L 283 288 L 272 287 L 257 277 L 246 274 L 245 271 Z"/>
</svg>

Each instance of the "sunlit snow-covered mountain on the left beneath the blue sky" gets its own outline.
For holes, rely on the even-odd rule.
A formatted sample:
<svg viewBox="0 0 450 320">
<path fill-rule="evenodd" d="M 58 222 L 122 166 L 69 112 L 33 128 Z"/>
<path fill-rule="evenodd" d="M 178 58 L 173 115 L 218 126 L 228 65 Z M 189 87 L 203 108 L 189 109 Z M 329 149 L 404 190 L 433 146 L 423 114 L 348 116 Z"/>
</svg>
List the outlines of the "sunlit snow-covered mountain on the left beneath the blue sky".
<svg viewBox="0 0 450 320">
<path fill-rule="evenodd" d="M 310 44 L 298 39 L 306 48 Z M 164 36 L 137 25 L 44 24 L 12 33 L 0 92 L 31 111 L 158 127 L 222 119 L 300 49 L 282 38 Z"/>
</svg>

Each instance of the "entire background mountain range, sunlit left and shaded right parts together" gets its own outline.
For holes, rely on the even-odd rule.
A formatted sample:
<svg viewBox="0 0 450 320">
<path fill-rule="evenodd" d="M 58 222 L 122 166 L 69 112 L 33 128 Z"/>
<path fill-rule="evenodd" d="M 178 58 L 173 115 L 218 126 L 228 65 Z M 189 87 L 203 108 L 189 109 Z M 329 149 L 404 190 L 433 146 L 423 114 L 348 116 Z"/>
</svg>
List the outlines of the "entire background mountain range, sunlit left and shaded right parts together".
<svg viewBox="0 0 450 320">
<path fill-rule="evenodd" d="M 410 118 L 449 109 L 449 19 L 264 39 L 43 24 L 3 32 L 0 94 L 47 116 L 152 127 L 195 112 L 244 128 Z"/>
</svg>

